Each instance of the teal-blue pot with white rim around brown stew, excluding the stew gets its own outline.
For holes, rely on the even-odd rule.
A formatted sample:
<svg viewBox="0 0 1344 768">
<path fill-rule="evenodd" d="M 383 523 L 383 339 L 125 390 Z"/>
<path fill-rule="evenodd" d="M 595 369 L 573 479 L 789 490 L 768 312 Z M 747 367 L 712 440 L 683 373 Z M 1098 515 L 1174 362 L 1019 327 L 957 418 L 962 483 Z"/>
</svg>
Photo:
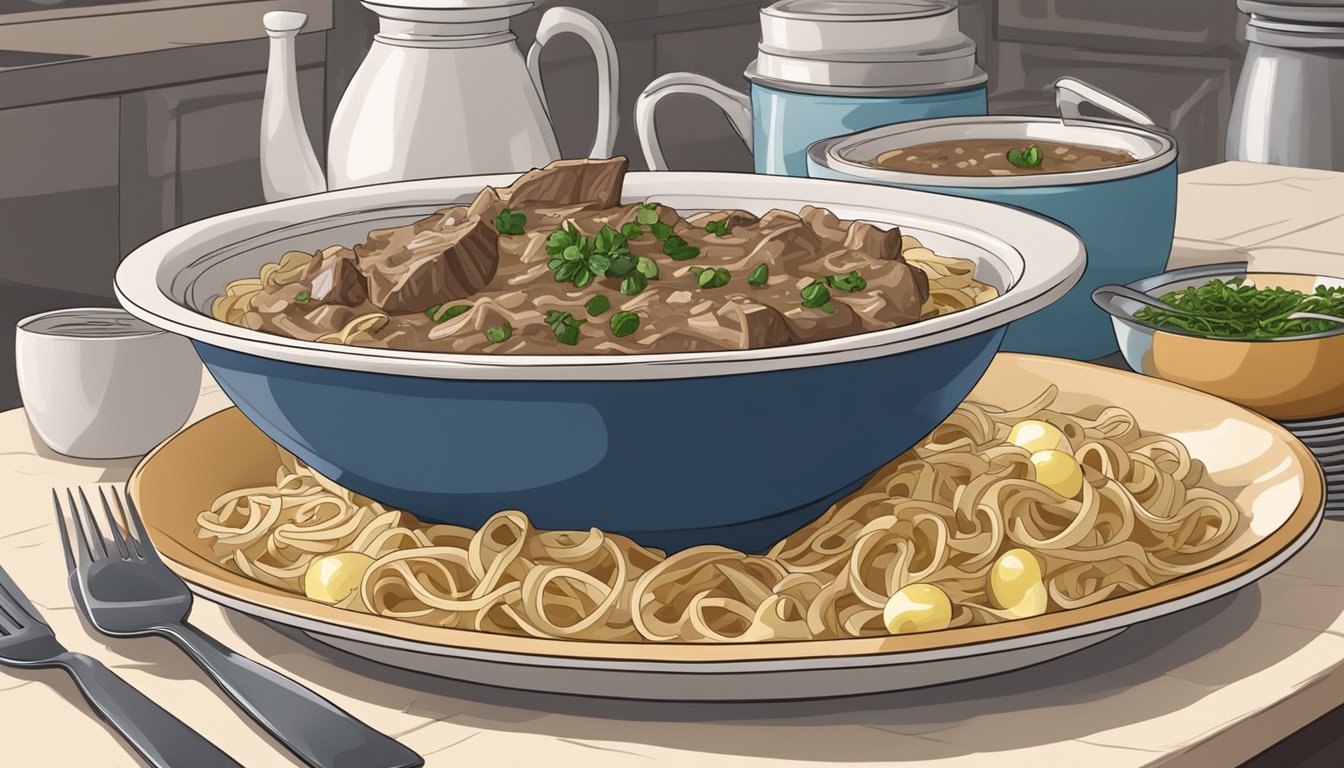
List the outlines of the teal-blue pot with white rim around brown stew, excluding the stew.
<svg viewBox="0 0 1344 768">
<path fill-rule="evenodd" d="M 937 176 L 879 168 L 905 147 L 954 139 L 1062 141 L 1125 149 L 1138 161 L 1095 171 L 1031 176 Z M 818 141 L 808 175 L 860 180 L 1003 203 L 1050 217 L 1087 246 L 1087 272 L 1044 312 L 1008 328 L 1003 348 L 1091 360 L 1117 350 L 1110 317 L 1091 301 L 1101 285 L 1125 284 L 1167 266 L 1176 230 L 1176 143 L 1129 124 L 1050 117 L 961 117 L 890 125 Z M 1031 252 L 1027 252 L 1031 258 Z"/>
</svg>

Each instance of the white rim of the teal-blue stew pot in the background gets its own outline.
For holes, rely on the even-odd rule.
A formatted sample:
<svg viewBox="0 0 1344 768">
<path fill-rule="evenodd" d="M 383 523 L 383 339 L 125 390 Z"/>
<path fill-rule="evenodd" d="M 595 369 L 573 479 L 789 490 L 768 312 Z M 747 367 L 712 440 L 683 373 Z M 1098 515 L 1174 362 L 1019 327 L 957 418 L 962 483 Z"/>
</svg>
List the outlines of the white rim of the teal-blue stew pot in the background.
<svg viewBox="0 0 1344 768">
<path fill-rule="evenodd" d="M 914 147 L 918 144 L 926 144 L 930 141 L 938 141 L 939 139 L 923 137 L 923 139 L 910 139 L 907 141 L 899 141 L 898 137 L 909 136 L 921 132 L 937 132 L 943 128 L 956 126 L 991 126 L 989 132 L 993 133 L 992 128 L 1005 128 L 1012 126 L 1019 130 L 1025 130 L 1030 125 L 1044 125 L 1052 129 L 1070 130 L 1074 128 L 1087 129 L 1087 130 L 1101 130 L 1107 133 L 1126 133 L 1129 136 L 1137 136 L 1153 143 L 1154 152 L 1149 157 L 1144 157 L 1134 163 L 1126 163 L 1124 165 L 1114 165 L 1110 168 L 1097 168 L 1091 171 L 1066 171 L 1063 174 L 1031 174 L 1023 176 L 953 176 L 946 174 L 911 174 L 907 171 L 892 171 L 890 168 L 880 168 L 872 165 L 871 163 L 862 163 L 853 160 L 855 153 L 862 153 L 864 157 L 871 155 L 872 160 L 876 160 L 883 152 L 890 152 L 891 149 L 902 149 Z M 993 139 L 1017 139 L 1017 136 L 991 136 Z M 970 139 L 970 137 L 965 137 Z M 978 139 L 978 137 L 977 137 Z M 1025 137 L 1023 137 L 1025 140 Z M 871 151 L 870 147 L 874 144 L 882 144 L 882 149 Z M 1079 141 L 1079 144 L 1091 144 L 1094 141 Z M 1111 145 L 1106 149 L 1125 149 L 1125 147 Z M 1077 120 L 1068 118 L 1063 120 L 1059 117 L 1032 117 L 1032 116 L 1012 116 L 1012 114 L 991 114 L 991 116 L 974 116 L 974 117 L 941 117 L 937 120 L 917 120 L 913 122 L 902 122 L 898 125 L 886 125 L 882 128 L 872 128 L 870 130 L 862 130 L 859 133 L 851 133 L 848 136 L 837 136 L 835 139 L 824 139 L 817 141 L 812 147 L 808 147 L 808 160 L 853 176 L 855 179 L 866 179 L 874 182 L 883 182 L 887 184 L 911 184 L 919 187 L 960 187 L 960 188 L 1020 188 L 1020 187 L 1067 187 L 1074 184 L 1093 184 L 1098 182 L 1114 182 L 1117 179 L 1128 179 L 1130 176 L 1142 176 L 1159 168 L 1164 168 L 1171 163 L 1176 161 L 1176 140 L 1169 135 L 1163 133 L 1154 128 L 1138 126 L 1129 122 L 1111 122 L 1106 120 Z"/>
</svg>

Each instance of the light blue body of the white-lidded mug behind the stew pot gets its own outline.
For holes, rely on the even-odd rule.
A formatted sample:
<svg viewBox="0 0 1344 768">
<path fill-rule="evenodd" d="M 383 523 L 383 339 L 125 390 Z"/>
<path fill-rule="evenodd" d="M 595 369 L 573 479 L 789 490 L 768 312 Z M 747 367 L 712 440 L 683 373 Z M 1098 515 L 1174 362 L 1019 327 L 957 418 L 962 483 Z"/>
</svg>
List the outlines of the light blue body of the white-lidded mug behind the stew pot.
<svg viewBox="0 0 1344 768">
<path fill-rule="evenodd" d="M 806 176 L 808 147 L 856 130 L 989 112 L 985 86 L 902 97 L 818 95 L 751 83 L 755 172 Z"/>
</svg>

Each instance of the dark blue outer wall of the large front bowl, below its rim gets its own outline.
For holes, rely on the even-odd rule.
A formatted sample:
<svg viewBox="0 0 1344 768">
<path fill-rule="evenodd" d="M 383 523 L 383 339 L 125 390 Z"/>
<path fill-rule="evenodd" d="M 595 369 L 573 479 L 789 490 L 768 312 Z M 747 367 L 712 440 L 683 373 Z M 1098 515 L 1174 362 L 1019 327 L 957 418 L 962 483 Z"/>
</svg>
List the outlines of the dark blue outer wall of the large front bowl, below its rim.
<svg viewBox="0 0 1344 768">
<path fill-rule="evenodd" d="M 589 382 L 413 378 L 194 343 L 271 440 L 421 519 L 477 527 L 516 508 L 539 529 L 598 527 L 668 551 L 763 551 L 946 418 L 1003 335 L 761 374 Z M 597 496 L 625 503 L 594 508 Z"/>
</svg>

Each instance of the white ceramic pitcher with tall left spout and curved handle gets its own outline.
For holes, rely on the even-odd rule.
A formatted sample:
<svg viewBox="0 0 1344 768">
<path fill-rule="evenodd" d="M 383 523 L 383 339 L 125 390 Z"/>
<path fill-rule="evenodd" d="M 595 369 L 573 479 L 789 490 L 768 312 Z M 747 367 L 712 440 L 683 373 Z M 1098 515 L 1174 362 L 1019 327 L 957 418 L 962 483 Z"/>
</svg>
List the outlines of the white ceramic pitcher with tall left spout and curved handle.
<svg viewBox="0 0 1344 768">
<path fill-rule="evenodd" d="M 379 16 L 374 44 L 332 118 L 323 174 L 298 104 L 296 38 L 305 13 L 273 11 L 262 102 L 261 171 L 267 200 L 382 182 L 503 174 L 559 159 L 542 87 L 542 47 L 582 38 L 597 59 L 597 136 L 616 141 L 616 44 L 590 13 L 551 8 L 524 61 L 509 19 L 532 0 L 364 0 Z"/>
</svg>

